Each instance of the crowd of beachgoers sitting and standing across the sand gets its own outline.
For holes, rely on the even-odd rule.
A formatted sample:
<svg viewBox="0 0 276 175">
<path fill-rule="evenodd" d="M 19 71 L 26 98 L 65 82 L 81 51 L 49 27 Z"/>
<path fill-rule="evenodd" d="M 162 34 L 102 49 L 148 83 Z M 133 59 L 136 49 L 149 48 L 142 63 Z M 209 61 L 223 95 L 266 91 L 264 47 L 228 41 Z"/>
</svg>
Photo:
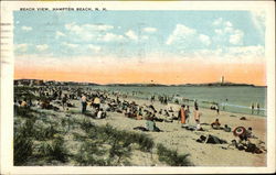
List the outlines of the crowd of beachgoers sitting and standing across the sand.
<svg viewBox="0 0 276 175">
<path fill-rule="evenodd" d="M 149 98 L 150 103 L 137 103 L 135 100 L 127 99 L 125 94 L 108 91 L 108 90 L 91 90 L 85 88 L 73 88 L 73 87 L 40 87 L 32 91 L 29 91 L 32 97 L 23 97 L 14 99 L 14 107 L 20 108 L 31 108 L 36 107 L 41 109 L 53 109 L 53 110 L 63 110 L 67 111 L 70 108 L 76 108 L 81 103 L 79 112 L 83 114 L 89 113 L 91 117 L 95 119 L 107 118 L 110 112 L 118 112 L 125 116 L 126 118 L 135 120 L 145 120 L 145 127 L 136 127 L 135 130 L 142 131 L 156 131 L 161 132 L 162 130 L 158 128 L 156 122 L 180 122 L 181 128 L 185 128 L 192 131 L 204 131 L 202 128 L 202 112 L 200 111 L 199 102 L 194 100 L 193 110 L 191 111 L 189 105 L 181 105 L 179 109 L 173 109 L 169 106 L 169 98 L 166 96 L 151 96 Z M 132 94 L 135 95 L 135 94 Z M 155 107 L 155 100 L 158 99 L 163 108 L 157 109 Z M 216 110 L 216 116 L 219 113 L 219 106 L 212 106 L 211 110 Z M 193 119 L 191 118 L 193 116 Z M 211 129 L 223 130 L 225 132 L 232 132 L 232 129 L 224 124 L 222 127 L 219 118 L 215 119 L 211 124 Z M 250 142 L 252 138 L 252 128 L 246 130 L 246 134 L 238 135 L 240 141 L 233 141 L 233 144 L 238 150 L 242 150 L 242 141 Z M 211 142 L 216 141 L 215 143 L 223 144 L 224 141 L 220 139 L 214 139 L 214 135 L 201 136 L 198 142 Z M 246 144 L 252 145 L 252 143 Z M 244 149 L 246 150 L 246 149 Z M 255 151 L 257 153 L 257 151 Z M 258 151 L 259 153 L 261 151 Z"/>
</svg>

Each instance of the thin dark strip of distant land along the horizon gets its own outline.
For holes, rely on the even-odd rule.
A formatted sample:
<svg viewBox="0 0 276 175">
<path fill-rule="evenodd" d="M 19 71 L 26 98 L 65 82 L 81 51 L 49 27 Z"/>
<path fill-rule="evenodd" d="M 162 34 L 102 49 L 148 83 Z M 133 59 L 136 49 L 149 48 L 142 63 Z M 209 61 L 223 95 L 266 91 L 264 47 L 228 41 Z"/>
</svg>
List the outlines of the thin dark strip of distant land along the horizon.
<svg viewBox="0 0 276 175">
<path fill-rule="evenodd" d="M 42 79 L 14 79 L 15 86 L 121 86 L 121 87 L 266 87 L 253 84 L 235 84 L 235 83 L 205 83 L 205 84 L 180 84 L 180 85 L 162 85 L 162 84 L 95 84 L 95 83 L 77 83 L 77 81 L 57 81 Z"/>
</svg>

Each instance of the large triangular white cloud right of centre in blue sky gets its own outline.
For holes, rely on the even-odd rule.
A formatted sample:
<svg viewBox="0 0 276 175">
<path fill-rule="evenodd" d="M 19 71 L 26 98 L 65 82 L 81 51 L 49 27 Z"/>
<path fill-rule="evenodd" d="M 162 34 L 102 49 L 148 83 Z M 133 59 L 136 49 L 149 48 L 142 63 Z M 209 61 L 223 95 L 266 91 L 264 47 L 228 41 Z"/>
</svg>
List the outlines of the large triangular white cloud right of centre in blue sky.
<svg viewBox="0 0 276 175">
<path fill-rule="evenodd" d="M 193 29 L 190 29 L 183 24 L 177 24 L 174 31 L 168 37 L 166 44 L 171 45 L 171 44 L 177 43 L 181 40 L 185 40 L 187 37 L 194 35 L 195 33 L 197 33 L 197 31 Z"/>
</svg>

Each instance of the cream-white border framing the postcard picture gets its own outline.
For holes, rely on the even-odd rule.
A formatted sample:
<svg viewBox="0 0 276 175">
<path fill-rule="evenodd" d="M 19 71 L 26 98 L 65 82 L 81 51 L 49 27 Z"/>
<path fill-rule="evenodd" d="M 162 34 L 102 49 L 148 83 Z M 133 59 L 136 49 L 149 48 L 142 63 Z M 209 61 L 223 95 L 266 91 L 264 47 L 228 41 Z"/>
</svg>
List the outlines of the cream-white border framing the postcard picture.
<svg viewBox="0 0 276 175">
<path fill-rule="evenodd" d="M 12 166 L 13 138 L 13 55 L 1 58 L 1 174 L 183 174 L 183 173 L 274 173 L 275 172 L 275 3 L 273 1 L 4 1 L 1 2 L 1 22 L 12 22 L 12 11 L 19 8 L 106 8 L 107 10 L 259 10 L 265 9 L 267 58 L 267 166 L 266 167 L 79 167 L 79 166 Z M 10 28 L 12 31 L 12 26 Z M 7 33 L 6 33 L 7 34 Z M 1 33 L 3 35 L 3 33 Z M 12 34 L 6 40 L 12 51 Z M 2 41 L 1 41 L 2 42 Z M 1 46 L 1 50 L 3 46 Z M 4 62 L 4 63 L 2 63 Z"/>
</svg>

